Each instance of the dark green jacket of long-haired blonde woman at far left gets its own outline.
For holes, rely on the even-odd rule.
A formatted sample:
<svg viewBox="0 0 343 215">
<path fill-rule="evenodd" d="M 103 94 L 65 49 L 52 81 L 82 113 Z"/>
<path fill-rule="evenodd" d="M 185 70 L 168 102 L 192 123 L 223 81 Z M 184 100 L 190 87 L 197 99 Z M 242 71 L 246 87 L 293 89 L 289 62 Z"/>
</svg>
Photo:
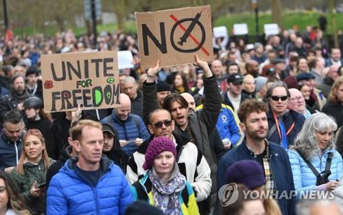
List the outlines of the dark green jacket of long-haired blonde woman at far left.
<svg viewBox="0 0 343 215">
<path fill-rule="evenodd" d="M 54 163 L 54 160 L 50 159 L 50 163 Z M 44 159 L 40 159 L 38 164 L 27 161 L 23 164 L 23 168 L 23 175 L 19 174 L 17 168 L 13 168 L 11 172 L 12 179 L 18 186 L 32 214 L 45 213 L 44 194 L 36 197 L 32 196 L 30 192 L 34 181 L 36 181 L 37 185 L 45 183 L 47 170 L 45 169 Z"/>
</svg>

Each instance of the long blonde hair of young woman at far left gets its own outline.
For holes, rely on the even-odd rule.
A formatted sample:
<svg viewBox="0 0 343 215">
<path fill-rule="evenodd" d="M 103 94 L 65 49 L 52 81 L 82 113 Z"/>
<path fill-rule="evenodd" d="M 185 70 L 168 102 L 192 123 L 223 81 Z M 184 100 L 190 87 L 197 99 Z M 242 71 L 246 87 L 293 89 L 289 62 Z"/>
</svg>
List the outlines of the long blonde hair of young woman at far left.
<svg viewBox="0 0 343 215">
<path fill-rule="evenodd" d="M 42 151 L 42 158 L 44 160 L 45 171 L 47 171 L 47 168 L 49 168 L 50 166 L 50 159 L 49 159 L 49 156 L 47 155 L 47 147 L 45 146 L 44 137 L 42 133 L 40 133 L 38 129 L 29 129 L 29 131 L 27 131 L 24 135 L 23 150 L 21 151 L 21 158 L 19 159 L 18 166 L 16 166 L 16 170 L 21 175 L 24 174 L 24 163 L 27 160 L 27 155 L 25 152 L 25 142 L 26 142 L 27 137 L 32 136 L 32 135 L 38 137 L 39 141 L 44 146 L 43 151 Z"/>
</svg>

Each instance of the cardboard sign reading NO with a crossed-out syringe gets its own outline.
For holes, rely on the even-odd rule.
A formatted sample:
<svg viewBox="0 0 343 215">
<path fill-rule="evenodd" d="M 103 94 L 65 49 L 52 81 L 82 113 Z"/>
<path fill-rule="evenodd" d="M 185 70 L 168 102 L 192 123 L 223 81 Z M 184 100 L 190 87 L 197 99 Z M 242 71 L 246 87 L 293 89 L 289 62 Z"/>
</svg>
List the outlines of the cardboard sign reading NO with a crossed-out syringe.
<svg viewBox="0 0 343 215">
<path fill-rule="evenodd" d="M 210 5 L 136 12 L 141 67 L 161 67 L 213 60 Z"/>
</svg>

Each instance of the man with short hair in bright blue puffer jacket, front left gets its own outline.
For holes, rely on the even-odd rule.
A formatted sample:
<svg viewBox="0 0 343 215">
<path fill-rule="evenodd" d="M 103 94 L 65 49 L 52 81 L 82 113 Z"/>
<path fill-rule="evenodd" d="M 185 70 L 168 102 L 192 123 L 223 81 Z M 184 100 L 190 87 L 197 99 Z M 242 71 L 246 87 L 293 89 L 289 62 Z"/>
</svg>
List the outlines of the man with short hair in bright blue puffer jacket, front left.
<svg viewBox="0 0 343 215">
<path fill-rule="evenodd" d="M 80 120 L 71 139 L 77 157 L 51 179 L 47 214 L 124 214 L 133 198 L 119 166 L 102 156 L 102 124 Z"/>
</svg>

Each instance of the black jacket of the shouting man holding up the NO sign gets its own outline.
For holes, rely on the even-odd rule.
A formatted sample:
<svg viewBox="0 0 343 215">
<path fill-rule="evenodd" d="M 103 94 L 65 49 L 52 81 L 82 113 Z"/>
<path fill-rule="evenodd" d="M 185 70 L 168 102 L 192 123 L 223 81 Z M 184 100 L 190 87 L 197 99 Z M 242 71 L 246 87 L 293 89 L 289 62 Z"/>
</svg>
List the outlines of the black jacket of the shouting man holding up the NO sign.
<svg viewBox="0 0 343 215">
<path fill-rule="evenodd" d="M 211 200 L 215 201 L 216 181 L 215 175 L 217 172 L 217 154 L 222 154 L 220 148 L 214 148 L 215 144 L 211 144 L 210 135 L 215 128 L 218 116 L 220 114 L 222 98 L 217 85 L 215 76 L 210 78 L 204 77 L 204 92 L 206 100 L 204 101 L 204 108 L 201 113 L 189 113 L 188 123 L 191 133 L 191 142 L 196 144 L 197 148 L 204 155 L 207 163 L 211 168 L 212 189 Z M 143 82 L 143 120 L 148 122 L 149 113 L 158 109 L 156 82 Z M 178 126 L 175 126 L 174 133 L 182 135 L 182 131 Z M 224 150 L 224 146 L 221 146 Z M 219 157 L 219 156 L 218 156 Z"/>
</svg>

